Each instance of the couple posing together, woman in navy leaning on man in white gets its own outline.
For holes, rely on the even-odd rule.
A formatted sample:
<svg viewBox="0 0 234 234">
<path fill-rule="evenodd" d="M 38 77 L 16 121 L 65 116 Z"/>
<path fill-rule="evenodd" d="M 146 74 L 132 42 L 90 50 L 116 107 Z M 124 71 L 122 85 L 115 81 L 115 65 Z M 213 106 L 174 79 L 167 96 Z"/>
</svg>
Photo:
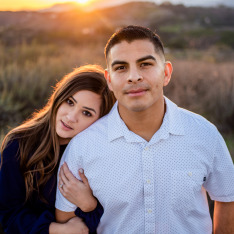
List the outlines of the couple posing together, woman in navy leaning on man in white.
<svg viewBox="0 0 234 234">
<path fill-rule="evenodd" d="M 80 68 L 41 112 L 6 136 L 0 171 L 6 233 L 212 233 L 206 191 L 215 200 L 214 232 L 233 233 L 230 154 L 212 124 L 163 96 L 172 65 L 160 38 L 124 27 L 105 56 L 104 76 L 118 101 L 112 109 L 103 72 Z"/>
</svg>

